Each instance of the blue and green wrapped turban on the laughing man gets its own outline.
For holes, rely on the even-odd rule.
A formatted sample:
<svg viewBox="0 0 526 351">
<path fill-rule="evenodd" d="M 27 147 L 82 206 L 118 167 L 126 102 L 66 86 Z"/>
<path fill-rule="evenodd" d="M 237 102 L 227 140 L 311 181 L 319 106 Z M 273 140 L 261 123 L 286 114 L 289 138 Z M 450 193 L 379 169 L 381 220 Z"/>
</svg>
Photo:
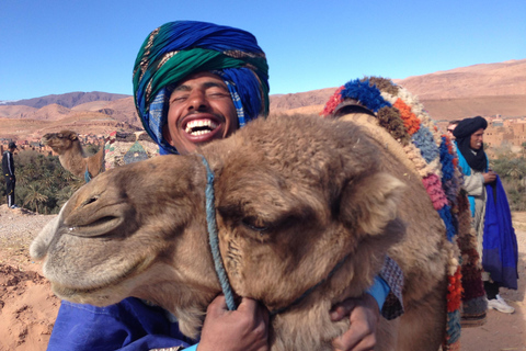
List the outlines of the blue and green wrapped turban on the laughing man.
<svg viewBox="0 0 526 351">
<path fill-rule="evenodd" d="M 268 114 L 268 66 L 252 34 L 206 22 L 165 23 L 145 39 L 134 67 L 135 105 L 162 155 L 178 154 L 162 136 L 170 98 L 167 87 L 202 71 L 222 78 L 240 127 Z"/>
</svg>

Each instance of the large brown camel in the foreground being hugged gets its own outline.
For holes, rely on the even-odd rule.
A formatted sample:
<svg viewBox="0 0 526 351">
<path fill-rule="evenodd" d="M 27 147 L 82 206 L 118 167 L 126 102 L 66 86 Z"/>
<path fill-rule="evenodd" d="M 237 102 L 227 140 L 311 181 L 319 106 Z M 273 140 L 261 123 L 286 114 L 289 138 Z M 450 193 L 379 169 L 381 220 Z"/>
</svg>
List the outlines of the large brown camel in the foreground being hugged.
<svg viewBox="0 0 526 351">
<path fill-rule="evenodd" d="M 350 120 L 368 118 L 357 114 Z M 455 245 L 398 143 L 356 123 L 256 120 L 199 152 L 215 174 L 219 248 L 233 292 L 271 312 L 272 350 L 331 350 L 388 253 L 405 276 L 405 314 L 380 321 L 376 350 L 439 349 Z M 65 299 L 128 296 L 174 314 L 196 337 L 221 292 L 208 246 L 199 155 L 108 170 L 82 186 L 31 247 Z"/>
</svg>

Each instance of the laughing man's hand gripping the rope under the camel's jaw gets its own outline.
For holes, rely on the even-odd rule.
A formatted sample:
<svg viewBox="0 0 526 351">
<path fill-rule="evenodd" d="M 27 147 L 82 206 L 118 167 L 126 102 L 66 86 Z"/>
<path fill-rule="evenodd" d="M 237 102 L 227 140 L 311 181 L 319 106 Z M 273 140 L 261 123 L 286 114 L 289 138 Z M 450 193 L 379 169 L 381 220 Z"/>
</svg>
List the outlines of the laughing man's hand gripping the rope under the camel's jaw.
<svg viewBox="0 0 526 351">
<path fill-rule="evenodd" d="M 247 297 L 237 310 L 228 310 L 225 296 L 217 296 L 208 305 L 197 350 L 268 350 L 268 310 Z"/>
</svg>

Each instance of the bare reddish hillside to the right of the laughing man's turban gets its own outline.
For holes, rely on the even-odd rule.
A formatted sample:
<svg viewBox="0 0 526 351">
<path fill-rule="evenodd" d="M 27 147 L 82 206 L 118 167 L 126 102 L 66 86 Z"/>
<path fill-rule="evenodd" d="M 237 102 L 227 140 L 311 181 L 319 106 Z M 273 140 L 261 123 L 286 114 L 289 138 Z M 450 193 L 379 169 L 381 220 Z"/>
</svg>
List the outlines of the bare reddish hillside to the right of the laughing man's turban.
<svg viewBox="0 0 526 351">
<path fill-rule="evenodd" d="M 345 82 L 343 79 L 342 84 Z M 461 67 L 395 82 L 416 94 L 435 120 L 526 116 L 526 59 Z M 271 111 L 319 112 L 336 88 L 271 95 Z"/>
</svg>

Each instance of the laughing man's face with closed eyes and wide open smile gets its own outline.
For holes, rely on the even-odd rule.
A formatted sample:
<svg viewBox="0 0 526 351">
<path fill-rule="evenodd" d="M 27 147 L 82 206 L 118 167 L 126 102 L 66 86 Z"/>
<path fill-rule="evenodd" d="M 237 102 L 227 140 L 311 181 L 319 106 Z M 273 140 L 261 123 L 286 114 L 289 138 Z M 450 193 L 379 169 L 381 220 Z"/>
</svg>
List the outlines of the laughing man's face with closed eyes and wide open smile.
<svg viewBox="0 0 526 351">
<path fill-rule="evenodd" d="M 162 134 L 185 155 L 199 144 L 228 137 L 237 128 L 238 115 L 227 86 L 216 75 L 199 72 L 173 90 Z"/>
</svg>

